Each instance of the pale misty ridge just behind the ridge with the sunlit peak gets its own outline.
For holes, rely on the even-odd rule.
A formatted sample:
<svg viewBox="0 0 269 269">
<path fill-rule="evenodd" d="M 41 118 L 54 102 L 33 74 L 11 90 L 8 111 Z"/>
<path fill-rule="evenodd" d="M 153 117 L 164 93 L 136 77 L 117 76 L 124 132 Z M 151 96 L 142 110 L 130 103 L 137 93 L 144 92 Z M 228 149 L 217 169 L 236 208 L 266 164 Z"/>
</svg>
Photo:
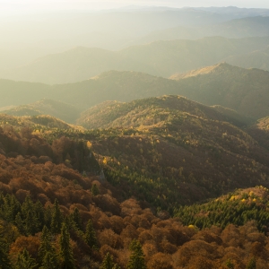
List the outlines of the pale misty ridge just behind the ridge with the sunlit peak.
<svg viewBox="0 0 269 269">
<path fill-rule="evenodd" d="M 230 56 L 265 49 L 268 45 L 268 38 L 211 37 L 198 40 L 156 41 L 120 51 L 80 47 L 39 58 L 29 65 L 2 73 L 0 76 L 50 84 L 79 82 L 111 69 L 169 77 L 175 73 L 214 65 Z"/>
</svg>

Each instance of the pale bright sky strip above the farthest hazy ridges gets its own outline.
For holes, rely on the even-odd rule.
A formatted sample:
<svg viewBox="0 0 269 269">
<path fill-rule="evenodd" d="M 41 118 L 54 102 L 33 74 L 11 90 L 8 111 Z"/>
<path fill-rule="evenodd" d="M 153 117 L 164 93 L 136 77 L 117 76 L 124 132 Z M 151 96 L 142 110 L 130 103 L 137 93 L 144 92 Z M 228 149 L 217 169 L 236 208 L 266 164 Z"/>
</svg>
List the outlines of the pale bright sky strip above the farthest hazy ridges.
<svg viewBox="0 0 269 269">
<path fill-rule="evenodd" d="M 268 0 L 0 0 L 0 10 L 110 9 L 127 5 L 156 6 L 239 6 L 269 8 Z"/>
</svg>

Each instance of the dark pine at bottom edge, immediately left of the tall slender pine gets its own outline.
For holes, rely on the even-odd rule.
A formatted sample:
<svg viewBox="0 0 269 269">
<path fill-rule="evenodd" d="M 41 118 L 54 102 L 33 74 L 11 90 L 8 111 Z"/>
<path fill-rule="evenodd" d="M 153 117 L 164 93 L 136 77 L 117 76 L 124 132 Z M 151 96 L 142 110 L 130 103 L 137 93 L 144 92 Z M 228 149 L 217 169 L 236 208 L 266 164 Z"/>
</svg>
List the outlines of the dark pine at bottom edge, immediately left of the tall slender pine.
<svg viewBox="0 0 269 269">
<path fill-rule="evenodd" d="M 43 269 L 57 269 L 58 262 L 56 248 L 51 243 L 52 236 L 46 226 L 44 226 L 41 235 L 39 247 L 39 261 Z"/>
</svg>

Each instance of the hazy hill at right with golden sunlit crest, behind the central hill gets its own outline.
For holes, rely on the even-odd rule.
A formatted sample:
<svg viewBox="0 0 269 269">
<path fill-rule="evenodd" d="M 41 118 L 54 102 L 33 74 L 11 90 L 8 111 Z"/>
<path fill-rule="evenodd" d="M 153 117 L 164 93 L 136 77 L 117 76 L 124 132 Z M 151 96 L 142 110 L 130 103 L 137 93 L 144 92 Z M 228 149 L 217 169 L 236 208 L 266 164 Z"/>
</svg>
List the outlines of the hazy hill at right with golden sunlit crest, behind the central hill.
<svg viewBox="0 0 269 269">
<path fill-rule="evenodd" d="M 221 63 L 171 77 L 178 93 L 206 105 L 231 108 L 245 117 L 269 115 L 269 73 Z"/>
</svg>

